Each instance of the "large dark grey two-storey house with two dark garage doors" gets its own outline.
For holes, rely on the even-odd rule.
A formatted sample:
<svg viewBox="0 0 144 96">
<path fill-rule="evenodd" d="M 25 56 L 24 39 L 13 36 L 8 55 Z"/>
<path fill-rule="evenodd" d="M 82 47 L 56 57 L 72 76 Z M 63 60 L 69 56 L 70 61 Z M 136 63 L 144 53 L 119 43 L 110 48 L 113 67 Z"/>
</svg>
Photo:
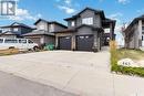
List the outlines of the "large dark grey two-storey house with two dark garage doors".
<svg viewBox="0 0 144 96">
<path fill-rule="evenodd" d="M 116 21 L 105 18 L 102 10 L 85 8 L 64 20 L 68 22 L 68 29 L 54 32 L 55 46 L 60 50 L 100 51 L 105 39 L 115 39 Z M 104 36 L 104 29 L 107 28 L 109 38 Z"/>
</svg>

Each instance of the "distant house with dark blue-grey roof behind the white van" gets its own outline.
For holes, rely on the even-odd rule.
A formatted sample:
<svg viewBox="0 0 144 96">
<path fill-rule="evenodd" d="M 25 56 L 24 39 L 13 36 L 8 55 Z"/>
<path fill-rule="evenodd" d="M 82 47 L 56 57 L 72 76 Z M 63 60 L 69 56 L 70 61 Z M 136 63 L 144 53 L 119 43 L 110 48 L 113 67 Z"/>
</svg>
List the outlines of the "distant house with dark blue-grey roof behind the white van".
<svg viewBox="0 0 144 96">
<path fill-rule="evenodd" d="M 33 30 L 31 26 L 18 22 L 0 28 L 2 30 L 0 38 L 23 38 L 23 34 Z"/>
</svg>

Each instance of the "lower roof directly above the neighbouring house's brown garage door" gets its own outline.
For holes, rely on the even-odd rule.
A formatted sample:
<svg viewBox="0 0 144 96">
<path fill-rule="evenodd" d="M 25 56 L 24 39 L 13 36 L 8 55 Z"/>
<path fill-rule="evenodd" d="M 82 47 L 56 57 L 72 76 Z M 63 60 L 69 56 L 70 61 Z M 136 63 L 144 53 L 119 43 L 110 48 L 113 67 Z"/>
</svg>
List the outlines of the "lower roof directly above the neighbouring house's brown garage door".
<svg viewBox="0 0 144 96">
<path fill-rule="evenodd" d="M 25 33 L 23 34 L 24 36 L 30 36 L 30 35 L 51 35 L 54 36 L 54 33 L 50 33 L 48 31 L 43 31 L 43 30 L 34 30 L 30 33 Z"/>
</svg>

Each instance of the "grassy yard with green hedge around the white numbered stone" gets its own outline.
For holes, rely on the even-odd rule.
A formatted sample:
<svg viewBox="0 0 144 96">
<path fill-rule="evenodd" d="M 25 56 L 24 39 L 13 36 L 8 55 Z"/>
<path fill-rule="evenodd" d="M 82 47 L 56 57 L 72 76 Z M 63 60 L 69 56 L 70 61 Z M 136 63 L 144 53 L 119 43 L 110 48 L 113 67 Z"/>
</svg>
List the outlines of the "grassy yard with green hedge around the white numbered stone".
<svg viewBox="0 0 144 96">
<path fill-rule="evenodd" d="M 144 67 L 131 67 L 119 65 L 122 58 L 131 58 L 138 64 L 144 60 L 144 52 L 141 50 L 116 49 L 115 42 L 111 42 L 111 71 L 117 74 L 137 75 L 144 77 Z"/>
</svg>

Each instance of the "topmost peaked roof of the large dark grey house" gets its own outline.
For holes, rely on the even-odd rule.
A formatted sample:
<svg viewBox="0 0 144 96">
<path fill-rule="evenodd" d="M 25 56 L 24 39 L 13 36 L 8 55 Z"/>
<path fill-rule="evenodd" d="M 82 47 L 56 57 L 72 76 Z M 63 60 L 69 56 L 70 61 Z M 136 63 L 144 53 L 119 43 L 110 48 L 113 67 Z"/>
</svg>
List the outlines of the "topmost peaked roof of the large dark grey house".
<svg viewBox="0 0 144 96">
<path fill-rule="evenodd" d="M 85 10 L 91 10 L 91 11 L 94 11 L 95 13 L 100 13 L 101 17 L 102 17 L 103 19 L 105 19 L 105 15 L 104 15 L 103 10 L 95 10 L 95 9 L 92 9 L 92 8 L 89 8 L 89 7 L 88 7 L 88 8 L 85 8 L 84 10 L 82 10 L 81 12 L 76 13 L 75 15 L 72 15 L 71 18 L 66 18 L 66 19 L 64 19 L 64 20 L 65 20 L 65 21 L 74 20 L 75 18 L 80 17 L 80 14 L 81 14 L 82 12 L 84 12 Z"/>
</svg>

